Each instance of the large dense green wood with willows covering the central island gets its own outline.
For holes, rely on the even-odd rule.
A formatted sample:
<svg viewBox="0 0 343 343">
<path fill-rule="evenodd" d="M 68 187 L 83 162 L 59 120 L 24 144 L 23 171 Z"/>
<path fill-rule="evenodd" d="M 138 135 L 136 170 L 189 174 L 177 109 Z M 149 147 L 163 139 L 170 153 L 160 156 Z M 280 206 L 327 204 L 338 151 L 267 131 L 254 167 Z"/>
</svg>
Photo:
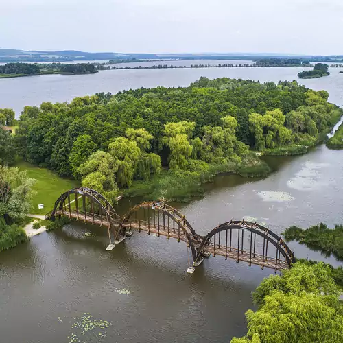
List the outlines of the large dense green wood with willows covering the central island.
<svg viewBox="0 0 343 343">
<path fill-rule="evenodd" d="M 194 190 L 218 172 L 268 174 L 249 147 L 313 145 L 332 126 L 336 107 L 328 96 L 296 82 L 228 78 L 100 93 L 25 107 L 16 143 L 26 161 L 80 179 L 111 199 L 134 180 L 163 196 L 167 175 L 186 176 Z M 169 171 L 156 177 L 162 166 Z"/>
</svg>

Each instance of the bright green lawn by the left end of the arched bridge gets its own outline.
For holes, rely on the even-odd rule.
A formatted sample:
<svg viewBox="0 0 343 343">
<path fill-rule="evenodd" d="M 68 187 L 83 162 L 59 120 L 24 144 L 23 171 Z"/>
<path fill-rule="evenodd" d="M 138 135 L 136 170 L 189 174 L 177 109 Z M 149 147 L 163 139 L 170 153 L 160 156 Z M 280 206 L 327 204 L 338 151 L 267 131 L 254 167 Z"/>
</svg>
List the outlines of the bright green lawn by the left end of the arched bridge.
<svg viewBox="0 0 343 343">
<path fill-rule="evenodd" d="M 36 184 L 34 185 L 36 194 L 32 202 L 32 214 L 45 215 L 53 209 L 54 203 L 64 191 L 80 186 L 80 183 L 77 181 L 60 178 L 60 176 L 49 169 L 39 168 L 27 162 L 21 161 L 16 163 L 16 167 L 19 167 L 21 170 L 27 170 L 27 175 L 30 178 L 36 179 Z M 38 209 L 38 204 L 44 204 L 44 209 Z"/>
</svg>

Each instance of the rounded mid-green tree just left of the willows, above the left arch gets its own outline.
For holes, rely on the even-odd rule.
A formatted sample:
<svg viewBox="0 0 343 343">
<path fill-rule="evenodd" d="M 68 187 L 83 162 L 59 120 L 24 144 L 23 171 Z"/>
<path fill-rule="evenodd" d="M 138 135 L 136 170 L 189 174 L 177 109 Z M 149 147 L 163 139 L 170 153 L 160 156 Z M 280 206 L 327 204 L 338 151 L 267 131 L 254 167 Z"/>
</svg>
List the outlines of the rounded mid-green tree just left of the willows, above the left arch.
<svg viewBox="0 0 343 343">
<path fill-rule="evenodd" d="M 73 143 L 73 148 L 69 154 L 69 163 L 74 178 L 79 178 L 78 167 L 82 165 L 88 156 L 91 156 L 93 152 L 97 150 L 97 145 L 92 141 L 89 134 L 83 134 L 79 136 Z"/>
</svg>

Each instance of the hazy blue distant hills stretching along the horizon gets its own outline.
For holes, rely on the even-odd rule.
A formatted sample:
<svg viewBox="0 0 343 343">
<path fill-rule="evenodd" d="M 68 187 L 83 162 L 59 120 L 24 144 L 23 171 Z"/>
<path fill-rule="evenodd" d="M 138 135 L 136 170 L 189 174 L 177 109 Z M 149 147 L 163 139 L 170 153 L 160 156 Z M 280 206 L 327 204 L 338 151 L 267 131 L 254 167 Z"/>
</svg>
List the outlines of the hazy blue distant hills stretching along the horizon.
<svg viewBox="0 0 343 343">
<path fill-rule="evenodd" d="M 203 53 L 203 54 L 121 54 L 117 52 L 84 52 L 75 50 L 64 51 L 25 51 L 16 49 L 0 49 L 0 62 L 68 62 L 78 60 L 259 60 L 261 58 L 304 58 L 322 62 L 337 62 L 343 60 L 340 56 L 306 56 L 295 54 L 274 53 Z"/>
</svg>

